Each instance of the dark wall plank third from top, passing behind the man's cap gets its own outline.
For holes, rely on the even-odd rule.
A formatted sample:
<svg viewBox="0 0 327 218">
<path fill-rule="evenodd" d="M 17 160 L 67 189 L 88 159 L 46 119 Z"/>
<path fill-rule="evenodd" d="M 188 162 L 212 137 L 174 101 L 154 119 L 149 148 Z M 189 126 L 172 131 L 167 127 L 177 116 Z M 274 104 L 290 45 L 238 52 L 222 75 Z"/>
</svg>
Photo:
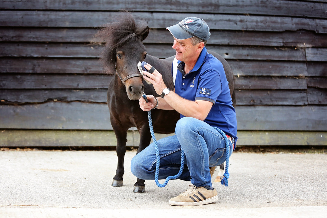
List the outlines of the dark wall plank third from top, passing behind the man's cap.
<svg viewBox="0 0 327 218">
<path fill-rule="evenodd" d="M 102 42 L 94 37 L 96 28 L 0 27 L 0 41 L 7 42 Z M 208 44 L 327 47 L 325 34 L 311 31 L 257 32 L 211 30 Z M 145 43 L 172 44 L 166 29 L 151 29 Z"/>
</svg>

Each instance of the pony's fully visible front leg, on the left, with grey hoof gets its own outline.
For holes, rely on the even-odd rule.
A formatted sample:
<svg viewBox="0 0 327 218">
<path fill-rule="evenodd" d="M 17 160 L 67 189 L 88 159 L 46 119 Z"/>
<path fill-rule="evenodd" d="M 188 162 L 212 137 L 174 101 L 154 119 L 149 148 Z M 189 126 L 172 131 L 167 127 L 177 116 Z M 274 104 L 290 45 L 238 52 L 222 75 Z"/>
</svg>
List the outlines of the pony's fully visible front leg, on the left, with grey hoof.
<svg viewBox="0 0 327 218">
<path fill-rule="evenodd" d="M 123 175 L 125 173 L 124 158 L 126 154 L 127 131 L 125 130 L 118 131 L 117 129 L 114 129 L 114 132 L 117 139 L 116 154 L 117 154 L 118 162 L 117 162 L 116 175 L 113 177 L 111 185 L 114 187 L 120 187 L 123 186 Z"/>
</svg>

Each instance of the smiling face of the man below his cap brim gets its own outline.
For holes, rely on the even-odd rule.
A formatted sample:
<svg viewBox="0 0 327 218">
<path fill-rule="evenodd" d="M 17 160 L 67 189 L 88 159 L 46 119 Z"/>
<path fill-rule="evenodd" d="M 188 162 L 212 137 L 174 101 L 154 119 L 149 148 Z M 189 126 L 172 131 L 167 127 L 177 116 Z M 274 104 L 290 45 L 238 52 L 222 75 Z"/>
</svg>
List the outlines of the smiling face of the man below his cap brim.
<svg viewBox="0 0 327 218">
<path fill-rule="evenodd" d="M 174 37 L 173 49 L 176 51 L 177 60 L 187 62 L 194 59 L 197 47 L 197 45 L 192 45 L 191 39 L 179 40 Z"/>
</svg>

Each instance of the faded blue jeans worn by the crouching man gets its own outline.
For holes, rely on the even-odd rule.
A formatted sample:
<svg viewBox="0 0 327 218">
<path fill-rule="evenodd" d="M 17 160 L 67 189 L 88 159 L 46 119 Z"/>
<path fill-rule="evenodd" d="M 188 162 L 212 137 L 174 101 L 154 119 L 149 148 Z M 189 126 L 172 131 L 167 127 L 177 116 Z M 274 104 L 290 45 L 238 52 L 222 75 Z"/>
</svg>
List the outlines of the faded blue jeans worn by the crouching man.
<svg viewBox="0 0 327 218">
<path fill-rule="evenodd" d="M 197 187 L 211 189 L 209 166 L 226 161 L 224 137 L 207 123 L 192 117 L 181 118 L 175 135 L 157 141 L 160 153 L 159 179 L 178 174 L 181 166 L 181 148 L 185 153 L 185 165 L 178 179 L 191 181 Z M 233 147 L 230 146 L 230 156 Z M 156 151 L 151 143 L 131 160 L 131 172 L 140 179 L 154 180 Z"/>
</svg>

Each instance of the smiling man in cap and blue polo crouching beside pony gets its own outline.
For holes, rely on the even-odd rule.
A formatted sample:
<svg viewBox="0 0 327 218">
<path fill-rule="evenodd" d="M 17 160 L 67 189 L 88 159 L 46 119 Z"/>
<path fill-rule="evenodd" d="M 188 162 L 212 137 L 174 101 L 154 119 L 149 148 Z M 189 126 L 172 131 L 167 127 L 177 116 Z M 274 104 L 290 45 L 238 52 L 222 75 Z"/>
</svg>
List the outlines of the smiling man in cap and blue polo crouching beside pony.
<svg viewBox="0 0 327 218">
<path fill-rule="evenodd" d="M 139 105 L 144 111 L 157 106 L 158 109 L 175 109 L 181 114 L 175 135 L 157 141 L 160 152 L 159 179 L 179 172 L 182 148 L 186 165 L 179 179 L 192 183 L 184 193 L 170 199 L 169 204 L 209 204 L 218 199 L 212 187 L 217 176 L 215 166 L 227 158 L 224 137 L 214 127 L 226 133 L 235 144 L 235 109 L 223 65 L 205 48 L 210 37 L 208 25 L 202 19 L 188 17 L 166 29 L 174 37 L 172 47 L 179 60 L 175 90 L 167 89 L 157 70 L 152 74 L 143 71 L 144 78 L 153 84 L 161 98 L 147 95 L 148 103 L 141 98 Z M 145 68 L 149 70 L 151 65 L 147 64 Z M 233 146 L 230 146 L 230 155 L 232 151 Z M 131 171 L 138 178 L 154 180 L 155 168 L 156 152 L 151 143 L 132 159 Z"/>
</svg>

